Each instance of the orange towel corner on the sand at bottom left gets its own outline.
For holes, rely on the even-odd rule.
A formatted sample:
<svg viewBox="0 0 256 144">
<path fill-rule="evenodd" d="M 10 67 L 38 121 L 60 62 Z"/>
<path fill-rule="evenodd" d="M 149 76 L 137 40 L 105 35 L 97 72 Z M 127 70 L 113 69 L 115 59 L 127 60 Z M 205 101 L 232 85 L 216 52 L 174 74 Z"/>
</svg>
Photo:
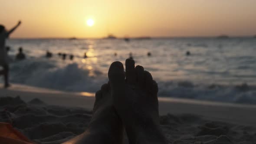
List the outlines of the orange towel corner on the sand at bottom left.
<svg viewBox="0 0 256 144">
<path fill-rule="evenodd" d="M 0 122 L 0 144 L 33 144 L 9 123 Z"/>
</svg>

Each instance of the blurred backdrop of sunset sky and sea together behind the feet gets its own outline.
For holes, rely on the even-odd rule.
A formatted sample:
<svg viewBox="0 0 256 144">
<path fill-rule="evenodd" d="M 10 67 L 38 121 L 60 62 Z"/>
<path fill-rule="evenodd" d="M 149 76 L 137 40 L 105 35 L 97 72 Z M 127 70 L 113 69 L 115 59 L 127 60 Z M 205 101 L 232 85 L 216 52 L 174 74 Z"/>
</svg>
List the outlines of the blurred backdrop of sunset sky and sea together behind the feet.
<svg viewBox="0 0 256 144">
<path fill-rule="evenodd" d="M 132 57 L 160 97 L 256 104 L 255 0 L 0 3 L 7 30 L 22 21 L 6 43 L 11 83 L 96 92 L 112 62 Z"/>
</svg>

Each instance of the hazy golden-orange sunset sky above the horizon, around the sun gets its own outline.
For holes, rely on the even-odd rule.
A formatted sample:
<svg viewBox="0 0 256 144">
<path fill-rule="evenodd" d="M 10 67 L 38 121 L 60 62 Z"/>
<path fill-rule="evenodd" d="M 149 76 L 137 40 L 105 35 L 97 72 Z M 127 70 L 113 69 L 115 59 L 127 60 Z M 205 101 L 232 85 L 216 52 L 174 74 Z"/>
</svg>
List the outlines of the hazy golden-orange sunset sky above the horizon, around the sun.
<svg viewBox="0 0 256 144">
<path fill-rule="evenodd" d="M 256 35 L 256 0 L 0 0 L 13 38 Z M 86 20 L 94 20 L 87 26 Z"/>
</svg>

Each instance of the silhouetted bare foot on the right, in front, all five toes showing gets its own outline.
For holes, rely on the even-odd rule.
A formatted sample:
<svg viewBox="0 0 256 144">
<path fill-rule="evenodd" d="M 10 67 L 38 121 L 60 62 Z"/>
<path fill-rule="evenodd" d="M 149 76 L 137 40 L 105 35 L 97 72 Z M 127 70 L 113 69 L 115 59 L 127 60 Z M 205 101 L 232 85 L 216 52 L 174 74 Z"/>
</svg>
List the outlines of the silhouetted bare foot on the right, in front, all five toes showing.
<svg viewBox="0 0 256 144">
<path fill-rule="evenodd" d="M 111 95 L 130 144 L 166 143 L 158 113 L 158 85 L 149 72 L 126 59 L 126 79 L 121 62 L 113 62 L 108 71 Z"/>
</svg>

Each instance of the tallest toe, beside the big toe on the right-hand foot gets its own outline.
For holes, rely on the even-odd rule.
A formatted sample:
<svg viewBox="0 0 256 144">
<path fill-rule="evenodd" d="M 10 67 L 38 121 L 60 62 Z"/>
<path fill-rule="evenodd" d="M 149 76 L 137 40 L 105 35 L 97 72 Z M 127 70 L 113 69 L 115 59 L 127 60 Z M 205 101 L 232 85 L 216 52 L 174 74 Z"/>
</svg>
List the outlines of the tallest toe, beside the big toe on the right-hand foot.
<svg viewBox="0 0 256 144">
<path fill-rule="evenodd" d="M 128 84 L 135 84 L 135 62 L 133 59 L 126 59 L 125 61 L 125 72 L 126 72 L 126 82 Z"/>
</svg>

